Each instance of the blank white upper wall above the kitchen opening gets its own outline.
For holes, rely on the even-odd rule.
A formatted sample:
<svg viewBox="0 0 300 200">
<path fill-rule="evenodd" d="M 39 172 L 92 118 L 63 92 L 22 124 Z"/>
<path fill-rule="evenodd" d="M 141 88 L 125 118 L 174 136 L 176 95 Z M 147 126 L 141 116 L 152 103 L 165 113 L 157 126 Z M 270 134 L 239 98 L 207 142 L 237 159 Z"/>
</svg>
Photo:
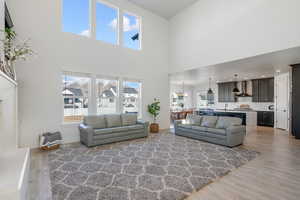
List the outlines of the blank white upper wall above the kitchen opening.
<svg viewBox="0 0 300 200">
<path fill-rule="evenodd" d="M 170 71 L 300 45 L 299 0 L 199 0 L 170 22 Z"/>
</svg>

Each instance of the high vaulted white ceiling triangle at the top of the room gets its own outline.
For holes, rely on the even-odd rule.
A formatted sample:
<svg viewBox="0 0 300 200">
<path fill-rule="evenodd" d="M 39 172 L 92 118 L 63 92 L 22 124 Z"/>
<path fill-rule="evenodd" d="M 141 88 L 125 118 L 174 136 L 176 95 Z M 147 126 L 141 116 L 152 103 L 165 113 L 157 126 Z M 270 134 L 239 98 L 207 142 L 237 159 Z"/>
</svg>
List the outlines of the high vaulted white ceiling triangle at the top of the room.
<svg viewBox="0 0 300 200">
<path fill-rule="evenodd" d="M 128 0 L 164 18 L 171 18 L 197 0 Z"/>
</svg>

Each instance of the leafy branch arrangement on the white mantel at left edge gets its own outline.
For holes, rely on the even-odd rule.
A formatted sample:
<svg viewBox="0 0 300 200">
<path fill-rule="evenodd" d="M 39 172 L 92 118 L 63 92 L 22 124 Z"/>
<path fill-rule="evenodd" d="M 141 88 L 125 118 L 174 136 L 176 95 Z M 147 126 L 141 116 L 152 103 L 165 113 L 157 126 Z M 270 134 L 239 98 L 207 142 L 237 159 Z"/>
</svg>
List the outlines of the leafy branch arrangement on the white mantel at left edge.
<svg viewBox="0 0 300 200">
<path fill-rule="evenodd" d="M 5 38 L 1 40 L 4 47 L 5 63 L 2 63 L 1 70 L 16 80 L 14 62 L 17 60 L 26 60 L 26 56 L 33 55 L 33 51 L 28 45 L 28 40 L 18 41 L 16 32 L 11 28 L 5 28 Z"/>
</svg>

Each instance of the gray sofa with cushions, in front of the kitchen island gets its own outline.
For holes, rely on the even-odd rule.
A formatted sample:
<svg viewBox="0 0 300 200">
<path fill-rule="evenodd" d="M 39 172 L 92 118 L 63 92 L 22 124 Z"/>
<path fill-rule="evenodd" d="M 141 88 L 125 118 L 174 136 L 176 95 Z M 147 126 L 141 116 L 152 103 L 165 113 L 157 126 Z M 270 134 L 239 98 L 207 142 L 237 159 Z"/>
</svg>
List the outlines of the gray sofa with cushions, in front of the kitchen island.
<svg viewBox="0 0 300 200">
<path fill-rule="evenodd" d="M 188 115 L 187 123 L 175 121 L 175 134 L 228 147 L 243 144 L 246 127 L 235 117 Z"/>
</svg>

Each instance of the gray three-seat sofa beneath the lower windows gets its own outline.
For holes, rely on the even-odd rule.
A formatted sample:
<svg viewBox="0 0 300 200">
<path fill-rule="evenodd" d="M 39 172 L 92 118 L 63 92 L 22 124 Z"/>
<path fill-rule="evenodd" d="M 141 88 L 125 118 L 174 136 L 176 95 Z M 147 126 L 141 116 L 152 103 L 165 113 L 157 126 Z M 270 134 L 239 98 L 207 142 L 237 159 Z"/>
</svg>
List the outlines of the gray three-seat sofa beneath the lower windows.
<svg viewBox="0 0 300 200">
<path fill-rule="evenodd" d="M 80 141 L 88 147 L 148 136 L 148 122 L 136 114 L 112 114 L 84 117 L 79 125 Z"/>
</svg>

